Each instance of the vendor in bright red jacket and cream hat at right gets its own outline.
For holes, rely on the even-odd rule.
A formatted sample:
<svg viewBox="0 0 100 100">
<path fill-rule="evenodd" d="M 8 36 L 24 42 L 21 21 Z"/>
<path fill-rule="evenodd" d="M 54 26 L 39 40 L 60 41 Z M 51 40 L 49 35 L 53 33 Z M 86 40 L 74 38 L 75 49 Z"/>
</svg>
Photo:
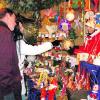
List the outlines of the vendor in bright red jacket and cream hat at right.
<svg viewBox="0 0 100 100">
<path fill-rule="evenodd" d="M 75 50 L 81 57 L 80 60 L 87 61 L 88 56 L 92 55 L 92 58 L 100 53 L 100 29 L 96 29 L 93 20 L 89 20 L 85 24 L 87 33 L 85 34 L 85 42 L 83 46 Z"/>
</svg>

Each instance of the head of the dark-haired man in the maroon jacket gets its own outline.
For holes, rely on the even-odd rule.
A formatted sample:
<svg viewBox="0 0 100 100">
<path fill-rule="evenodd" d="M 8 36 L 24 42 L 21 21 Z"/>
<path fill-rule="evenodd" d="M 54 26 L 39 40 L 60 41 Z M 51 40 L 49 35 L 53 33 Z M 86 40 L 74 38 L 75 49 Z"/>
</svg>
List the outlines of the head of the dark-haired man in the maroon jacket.
<svg viewBox="0 0 100 100">
<path fill-rule="evenodd" d="M 13 31 L 16 26 L 16 15 L 9 8 L 0 9 L 0 21 L 6 23 L 9 29 Z"/>
</svg>

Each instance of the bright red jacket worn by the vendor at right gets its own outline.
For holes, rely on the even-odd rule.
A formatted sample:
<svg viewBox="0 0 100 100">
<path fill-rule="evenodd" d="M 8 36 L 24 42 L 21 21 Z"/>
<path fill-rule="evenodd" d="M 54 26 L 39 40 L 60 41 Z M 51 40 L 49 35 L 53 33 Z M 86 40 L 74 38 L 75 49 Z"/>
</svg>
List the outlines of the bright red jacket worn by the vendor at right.
<svg viewBox="0 0 100 100">
<path fill-rule="evenodd" d="M 87 41 L 86 45 L 80 46 L 79 49 L 75 49 L 75 53 L 89 53 L 97 55 L 100 52 L 100 32 Z"/>
</svg>

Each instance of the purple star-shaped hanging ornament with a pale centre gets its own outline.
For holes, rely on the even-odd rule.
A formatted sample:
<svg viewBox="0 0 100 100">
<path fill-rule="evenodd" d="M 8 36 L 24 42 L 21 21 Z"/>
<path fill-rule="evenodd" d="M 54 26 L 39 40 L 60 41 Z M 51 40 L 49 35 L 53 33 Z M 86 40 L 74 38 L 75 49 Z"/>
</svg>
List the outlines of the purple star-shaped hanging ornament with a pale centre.
<svg viewBox="0 0 100 100">
<path fill-rule="evenodd" d="M 67 33 L 68 30 L 70 30 L 70 28 L 71 28 L 71 24 L 69 23 L 68 20 L 62 19 L 61 22 L 60 22 L 60 24 L 59 24 L 59 26 L 58 26 L 58 28 L 59 28 L 61 31 Z"/>
</svg>

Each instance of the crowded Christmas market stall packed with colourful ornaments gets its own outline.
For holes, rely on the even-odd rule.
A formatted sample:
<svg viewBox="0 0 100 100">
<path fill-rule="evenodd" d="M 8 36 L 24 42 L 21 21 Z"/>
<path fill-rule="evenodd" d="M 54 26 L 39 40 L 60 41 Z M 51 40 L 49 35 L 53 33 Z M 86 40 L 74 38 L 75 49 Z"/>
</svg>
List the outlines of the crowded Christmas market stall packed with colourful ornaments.
<svg viewBox="0 0 100 100">
<path fill-rule="evenodd" d="M 5 4 L 18 14 L 29 44 L 60 41 L 35 58 L 27 55 L 28 100 L 100 100 L 100 1 L 0 1 Z"/>
</svg>

